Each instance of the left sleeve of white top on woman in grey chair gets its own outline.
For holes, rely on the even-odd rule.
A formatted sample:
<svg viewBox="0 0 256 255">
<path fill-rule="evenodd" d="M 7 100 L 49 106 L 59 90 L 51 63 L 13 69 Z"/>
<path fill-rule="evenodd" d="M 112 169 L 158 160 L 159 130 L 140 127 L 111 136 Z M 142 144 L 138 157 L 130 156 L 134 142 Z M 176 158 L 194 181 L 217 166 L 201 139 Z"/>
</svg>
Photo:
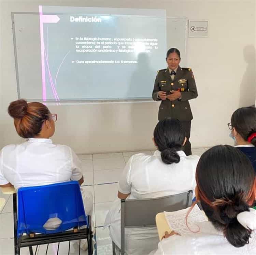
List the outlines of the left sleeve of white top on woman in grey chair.
<svg viewBox="0 0 256 255">
<path fill-rule="evenodd" d="M 130 157 L 118 181 L 118 191 L 123 194 L 131 193 L 131 178 L 130 178 L 131 176 L 130 175 L 131 175 L 132 160 L 133 160 L 133 156 Z"/>
</svg>

